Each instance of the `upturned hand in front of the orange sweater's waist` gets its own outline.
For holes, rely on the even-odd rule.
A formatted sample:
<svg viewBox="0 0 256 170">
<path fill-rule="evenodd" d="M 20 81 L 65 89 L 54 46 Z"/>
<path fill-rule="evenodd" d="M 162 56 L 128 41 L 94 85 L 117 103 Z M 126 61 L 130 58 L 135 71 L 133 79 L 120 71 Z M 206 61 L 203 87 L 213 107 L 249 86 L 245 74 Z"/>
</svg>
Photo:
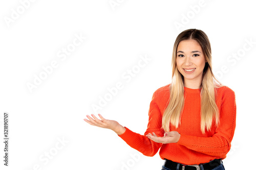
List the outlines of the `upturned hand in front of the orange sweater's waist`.
<svg viewBox="0 0 256 170">
<path fill-rule="evenodd" d="M 158 137 L 153 132 L 153 135 L 151 133 L 148 133 L 146 137 L 158 143 L 176 143 L 180 139 L 180 134 L 177 131 L 172 131 L 165 132 L 163 137 Z"/>
</svg>

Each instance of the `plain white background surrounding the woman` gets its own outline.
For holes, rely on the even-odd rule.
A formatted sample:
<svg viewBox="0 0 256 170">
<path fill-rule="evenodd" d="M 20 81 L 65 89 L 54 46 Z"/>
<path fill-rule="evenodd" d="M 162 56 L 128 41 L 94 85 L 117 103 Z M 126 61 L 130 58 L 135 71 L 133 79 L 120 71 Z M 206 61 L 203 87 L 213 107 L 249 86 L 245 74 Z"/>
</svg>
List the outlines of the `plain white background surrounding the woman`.
<svg viewBox="0 0 256 170">
<path fill-rule="evenodd" d="M 10 117 L 9 166 L 3 165 L 1 142 L 1 169 L 161 169 L 158 153 L 143 156 L 113 131 L 83 118 L 101 113 L 144 134 L 154 91 L 171 81 L 174 41 L 190 28 L 208 35 L 216 77 L 236 93 L 237 127 L 224 166 L 247 169 L 255 161 L 252 1 L 115 0 L 115 6 L 109 0 L 38 0 L 26 8 L 22 2 L 29 1 L 0 2 L 2 139 L 4 112 Z M 72 47 L 75 35 L 86 39 L 62 61 L 58 56 Z M 141 56 L 151 60 L 130 81 L 122 78 Z M 58 66 L 30 91 L 27 84 L 53 61 Z M 92 106 L 118 82 L 123 88 L 94 112 Z"/>
</svg>

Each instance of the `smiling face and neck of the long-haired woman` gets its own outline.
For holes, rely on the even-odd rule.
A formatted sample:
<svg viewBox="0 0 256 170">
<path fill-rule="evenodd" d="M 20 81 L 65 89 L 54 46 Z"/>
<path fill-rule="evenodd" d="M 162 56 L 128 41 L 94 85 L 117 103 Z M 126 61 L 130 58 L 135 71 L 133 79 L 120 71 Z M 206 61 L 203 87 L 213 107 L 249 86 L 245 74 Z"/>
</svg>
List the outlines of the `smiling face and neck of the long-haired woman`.
<svg viewBox="0 0 256 170">
<path fill-rule="evenodd" d="M 178 70 L 184 77 L 184 85 L 201 84 L 205 59 L 200 44 L 194 39 L 180 41 L 176 57 Z"/>
</svg>

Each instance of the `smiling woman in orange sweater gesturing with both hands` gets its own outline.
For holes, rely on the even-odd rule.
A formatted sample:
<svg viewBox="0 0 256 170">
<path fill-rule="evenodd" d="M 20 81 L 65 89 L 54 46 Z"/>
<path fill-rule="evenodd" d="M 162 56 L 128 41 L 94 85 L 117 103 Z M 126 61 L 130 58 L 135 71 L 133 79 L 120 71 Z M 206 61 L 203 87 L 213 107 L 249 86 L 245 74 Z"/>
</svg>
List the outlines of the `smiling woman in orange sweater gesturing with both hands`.
<svg viewBox="0 0 256 170">
<path fill-rule="evenodd" d="M 172 83 L 158 88 L 148 111 L 148 126 L 140 135 L 115 120 L 92 114 L 87 123 L 113 130 L 143 155 L 159 155 L 162 169 L 225 169 L 236 128 L 234 92 L 212 73 L 207 35 L 185 30 L 173 49 Z"/>
</svg>

